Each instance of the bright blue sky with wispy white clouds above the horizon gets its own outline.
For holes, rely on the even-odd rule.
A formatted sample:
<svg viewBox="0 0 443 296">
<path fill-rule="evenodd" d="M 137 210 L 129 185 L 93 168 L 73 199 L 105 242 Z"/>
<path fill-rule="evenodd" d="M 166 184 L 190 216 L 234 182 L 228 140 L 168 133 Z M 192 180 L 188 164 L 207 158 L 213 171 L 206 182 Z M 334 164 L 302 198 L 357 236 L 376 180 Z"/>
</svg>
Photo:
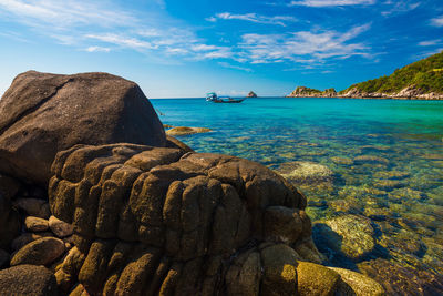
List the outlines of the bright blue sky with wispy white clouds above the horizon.
<svg viewBox="0 0 443 296">
<path fill-rule="evenodd" d="M 148 98 L 344 89 L 443 50 L 442 0 L 0 0 L 0 93 L 103 71 Z"/>
</svg>

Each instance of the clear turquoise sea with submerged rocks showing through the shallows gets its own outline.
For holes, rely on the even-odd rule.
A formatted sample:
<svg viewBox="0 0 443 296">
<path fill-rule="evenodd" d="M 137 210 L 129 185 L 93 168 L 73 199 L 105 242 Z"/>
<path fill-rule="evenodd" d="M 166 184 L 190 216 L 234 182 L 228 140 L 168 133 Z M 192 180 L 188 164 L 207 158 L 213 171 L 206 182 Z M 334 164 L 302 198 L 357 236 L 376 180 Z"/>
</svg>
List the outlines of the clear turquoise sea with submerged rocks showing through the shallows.
<svg viewBox="0 0 443 296">
<path fill-rule="evenodd" d="M 151 102 L 164 124 L 213 130 L 178 136 L 197 152 L 272 170 L 293 162 L 329 169 L 330 177 L 296 184 L 308 197 L 313 237 L 328 264 L 368 274 L 392 294 L 443 292 L 443 101 Z M 316 232 L 317 224 L 347 214 L 368 217 L 373 228 L 375 246 L 358 259 L 323 246 Z"/>
</svg>

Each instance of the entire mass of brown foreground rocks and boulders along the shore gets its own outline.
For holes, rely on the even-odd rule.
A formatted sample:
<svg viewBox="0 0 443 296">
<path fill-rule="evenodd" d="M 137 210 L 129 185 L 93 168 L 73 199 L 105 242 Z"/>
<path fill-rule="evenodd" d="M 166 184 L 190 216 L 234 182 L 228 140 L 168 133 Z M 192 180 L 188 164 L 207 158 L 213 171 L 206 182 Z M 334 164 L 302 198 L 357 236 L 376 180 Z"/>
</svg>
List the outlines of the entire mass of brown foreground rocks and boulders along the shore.
<svg viewBox="0 0 443 296">
<path fill-rule="evenodd" d="M 322 265 L 291 183 L 167 136 L 134 82 L 29 71 L 0 113 L 1 295 L 384 294 Z"/>
</svg>

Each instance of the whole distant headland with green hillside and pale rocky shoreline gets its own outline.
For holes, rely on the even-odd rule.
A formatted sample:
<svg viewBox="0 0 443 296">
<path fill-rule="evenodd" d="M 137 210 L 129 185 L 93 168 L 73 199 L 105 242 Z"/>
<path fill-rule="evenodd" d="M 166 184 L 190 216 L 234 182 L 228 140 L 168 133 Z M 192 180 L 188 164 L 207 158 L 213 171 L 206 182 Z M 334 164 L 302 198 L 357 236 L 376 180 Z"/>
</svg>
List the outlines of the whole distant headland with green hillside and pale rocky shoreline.
<svg viewBox="0 0 443 296">
<path fill-rule="evenodd" d="M 288 98 L 443 100 L 443 52 L 395 70 L 391 75 L 324 91 L 298 86 Z"/>
</svg>

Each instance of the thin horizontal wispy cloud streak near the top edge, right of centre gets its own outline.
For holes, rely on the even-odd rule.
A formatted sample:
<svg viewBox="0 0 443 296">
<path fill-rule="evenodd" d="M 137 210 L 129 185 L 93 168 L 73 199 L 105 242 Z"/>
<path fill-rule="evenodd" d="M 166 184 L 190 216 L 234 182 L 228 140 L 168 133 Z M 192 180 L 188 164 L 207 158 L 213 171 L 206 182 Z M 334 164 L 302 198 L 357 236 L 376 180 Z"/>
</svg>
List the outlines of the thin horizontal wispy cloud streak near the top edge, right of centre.
<svg viewBox="0 0 443 296">
<path fill-rule="evenodd" d="M 287 22 L 296 22 L 297 19 L 290 16 L 260 16 L 257 13 L 245 13 L 245 14 L 234 14 L 230 12 L 217 13 L 214 17 L 209 17 L 206 19 L 207 21 L 215 22 L 217 20 L 241 20 L 249 21 L 256 23 L 265 23 L 265 24 L 278 24 L 281 27 L 286 27 Z"/>
</svg>

